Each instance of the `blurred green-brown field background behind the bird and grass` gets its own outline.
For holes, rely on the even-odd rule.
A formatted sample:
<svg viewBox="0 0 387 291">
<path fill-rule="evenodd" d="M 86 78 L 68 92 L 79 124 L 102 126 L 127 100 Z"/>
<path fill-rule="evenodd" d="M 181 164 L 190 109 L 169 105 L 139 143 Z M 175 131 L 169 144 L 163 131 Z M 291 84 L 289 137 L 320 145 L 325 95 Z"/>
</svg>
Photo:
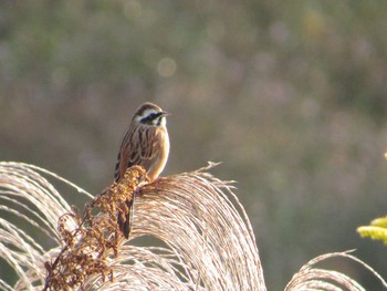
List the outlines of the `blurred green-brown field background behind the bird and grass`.
<svg viewBox="0 0 387 291">
<path fill-rule="evenodd" d="M 387 278 L 387 248 L 356 233 L 387 215 L 386 11 L 386 1 L 1 1 L 0 159 L 97 194 L 133 112 L 153 101 L 172 113 L 164 175 L 212 160 L 223 162 L 217 177 L 238 181 L 269 290 L 348 249 Z M 354 262 L 331 267 L 380 288 Z"/>
</svg>

